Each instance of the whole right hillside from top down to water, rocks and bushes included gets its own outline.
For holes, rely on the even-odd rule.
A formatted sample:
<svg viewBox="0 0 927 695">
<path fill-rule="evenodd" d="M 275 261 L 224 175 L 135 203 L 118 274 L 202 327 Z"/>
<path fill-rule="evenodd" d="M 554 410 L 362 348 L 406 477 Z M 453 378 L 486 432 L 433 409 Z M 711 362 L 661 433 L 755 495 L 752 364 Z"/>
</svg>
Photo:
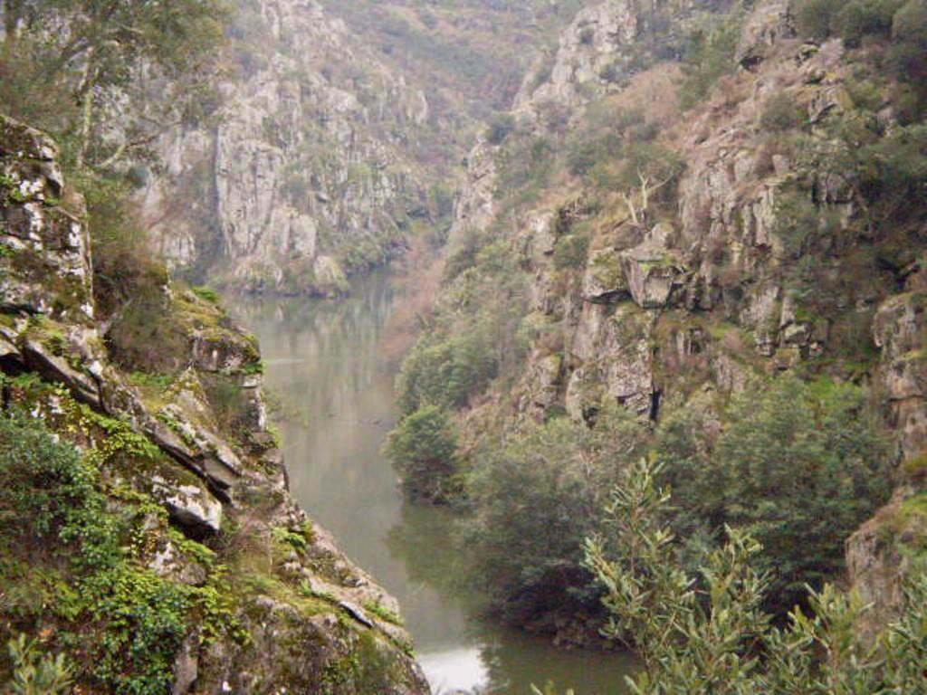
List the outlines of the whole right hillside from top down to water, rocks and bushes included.
<svg viewBox="0 0 927 695">
<path fill-rule="evenodd" d="M 730 600 L 775 625 L 847 578 L 870 643 L 902 610 L 927 531 L 925 8 L 587 6 L 490 123 L 387 453 L 413 499 L 460 508 L 505 619 L 590 643 L 605 595 L 616 637 L 655 639 L 622 622 L 647 589 L 603 585 L 629 565 L 593 572 L 584 544 L 636 562 L 602 509 L 641 458 L 672 489 L 660 562 L 750 549 L 762 588 Z M 759 657 L 729 636 L 712 649 Z"/>
</svg>

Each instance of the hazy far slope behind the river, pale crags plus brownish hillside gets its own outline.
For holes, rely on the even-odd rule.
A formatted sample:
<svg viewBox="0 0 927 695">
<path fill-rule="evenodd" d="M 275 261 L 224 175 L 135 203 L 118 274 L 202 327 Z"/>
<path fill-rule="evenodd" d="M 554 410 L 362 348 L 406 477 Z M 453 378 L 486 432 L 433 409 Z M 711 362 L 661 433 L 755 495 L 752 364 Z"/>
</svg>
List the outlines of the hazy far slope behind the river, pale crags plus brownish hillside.
<svg viewBox="0 0 927 695">
<path fill-rule="evenodd" d="M 343 291 L 445 228 L 475 134 L 581 5 L 239 3 L 224 106 L 138 171 L 159 248 L 239 289 Z"/>
</svg>

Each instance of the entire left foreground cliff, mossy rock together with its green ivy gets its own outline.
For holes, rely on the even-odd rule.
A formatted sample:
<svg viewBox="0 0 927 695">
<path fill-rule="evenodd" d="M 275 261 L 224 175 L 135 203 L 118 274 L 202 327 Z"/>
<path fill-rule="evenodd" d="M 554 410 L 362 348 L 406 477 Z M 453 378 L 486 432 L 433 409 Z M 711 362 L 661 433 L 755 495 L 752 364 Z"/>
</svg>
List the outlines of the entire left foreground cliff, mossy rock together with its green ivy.
<svg viewBox="0 0 927 695">
<path fill-rule="evenodd" d="M 175 369 L 110 359 L 121 319 L 95 318 L 82 198 L 56 156 L 0 120 L 5 418 L 70 461 L 25 498 L 65 500 L 44 504 L 41 537 L 26 512 L 8 526 L 24 499 L 0 498 L 0 631 L 41 635 L 95 692 L 429 692 L 395 600 L 289 495 L 254 340 L 164 274 L 152 318 L 178 336 L 159 345 Z M 6 436 L 12 490 L 31 469 L 11 462 L 27 438 Z"/>
</svg>

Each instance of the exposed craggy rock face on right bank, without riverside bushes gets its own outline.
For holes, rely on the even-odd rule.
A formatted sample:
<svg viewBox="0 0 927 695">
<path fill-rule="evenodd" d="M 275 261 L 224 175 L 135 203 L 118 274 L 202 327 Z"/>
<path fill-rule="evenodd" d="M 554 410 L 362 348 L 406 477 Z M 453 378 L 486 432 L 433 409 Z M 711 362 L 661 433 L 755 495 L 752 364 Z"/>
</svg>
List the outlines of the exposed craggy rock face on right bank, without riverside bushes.
<svg viewBox="0 0 927 695">
<path fill-rule="evenodd" d="M 892 505 L 847 544 L 850 579 L 876 603 L 878 622 L 897 604 L 927 529 L 922 201 L 873 215 L 853 159 L 873 138 L 904 138 L 884 96 L 891 86 L 840 39 L 798 39 L 789 3 L 768 0 L 737 19 L 736 71 L 683 113 L 678 68 L 659 50 L 640 59 L 644 16 L 651 25 L 698 20 L 670 3 L 584 10 L 552 69 L 528 77 L 513 115 L 529 141 L 568 143 L 595 105 L 639 110 L 647 137 L 659 133 L 650 151 L 666 155 L 664 171 L 682 171 L 671 196 L 661 202 L 661 174 L 641 164 L 622 184 L 629 196 L 562 173 L 536 202 L 513 208 L 489 163 L 504 161 L 505 145 L 484 142 L 471 155 L 452 239 L 498 230 L 504 215 L 528 321 L 542 337 L 528 341 L 517 384 L 482 398 L 464 428 L 473 439 L 500 414 L 516 422 L 561 409 L 590 420 L 605 399 L 643 422 L 694 409 L 722 426 L 726 399 L 757 378 L 795 371 L 870 384 L 896 460 L 906 461 Z M 883 92 L 867 101 L 862 79 Z M 558 110 L 565 117 L 552 120 Z M 832 125 L 863 121 L 870 134 L 856 143 Z M 607 162 L 600 171 L 607 182 Z M 564 262 L 560 252 L 579 237 L 588 253 Z"/>
</svg>

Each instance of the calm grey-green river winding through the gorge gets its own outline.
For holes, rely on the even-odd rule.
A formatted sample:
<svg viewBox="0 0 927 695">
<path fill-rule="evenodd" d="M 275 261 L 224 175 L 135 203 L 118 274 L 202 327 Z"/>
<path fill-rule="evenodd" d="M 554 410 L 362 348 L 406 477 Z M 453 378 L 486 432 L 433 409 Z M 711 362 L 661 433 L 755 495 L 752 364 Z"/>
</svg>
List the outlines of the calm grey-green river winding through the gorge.
<svg viewBox="0 0 927 695">
<path fill-rule="evenodd" d="M 260 338 L 266 383 L 288 413 L 282 426 L 290 487 L 349 557 L 400 600 L 435 693 L 623 695 L 632 661 L 554 650 L 544 639 L 476 619 L 455 588 L 446 510 L 403 505 L 380 448 L 397 419 L 395 367 L 383 332 L 400 284 L 377 272 L 338 301 L 242 301 L 235 314 Z"/>
</svg>

